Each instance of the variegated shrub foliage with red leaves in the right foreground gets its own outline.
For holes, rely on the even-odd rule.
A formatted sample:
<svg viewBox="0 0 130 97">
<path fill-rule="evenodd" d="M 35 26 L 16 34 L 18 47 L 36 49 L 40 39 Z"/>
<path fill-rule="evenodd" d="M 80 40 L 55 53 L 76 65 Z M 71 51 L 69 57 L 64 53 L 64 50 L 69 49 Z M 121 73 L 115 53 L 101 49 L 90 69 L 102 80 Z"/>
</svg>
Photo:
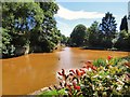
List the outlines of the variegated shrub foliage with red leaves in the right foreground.
<svg viewBox="0 0 130 97">
<path fill-rule="evenodd" d="M 81 69 L 58 73 L 58 89 L 69 97 L 114 97 L 130 95 L 130 61 L 122 58 L 84 63 Z"/>
</svg>

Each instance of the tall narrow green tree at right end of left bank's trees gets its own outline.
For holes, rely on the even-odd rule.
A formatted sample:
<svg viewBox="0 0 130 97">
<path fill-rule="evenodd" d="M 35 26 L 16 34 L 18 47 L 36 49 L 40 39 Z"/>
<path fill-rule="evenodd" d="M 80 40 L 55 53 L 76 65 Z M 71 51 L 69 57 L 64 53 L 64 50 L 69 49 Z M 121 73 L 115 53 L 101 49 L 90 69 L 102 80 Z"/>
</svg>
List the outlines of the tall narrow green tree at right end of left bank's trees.
<svg viewBox="0 0 130 97">
<path fill-rule="evenodd" d="M 37 48 L 34 52 L 52 52 L 54 46 L 58 43 L 61 33 L 56 28 L 54 14 L 56 14 L 58 6 L 55 2 L 39 2 L 43 11 L 43 22 L 40 25 L 42 30 L 34 29 L 31 33 L 31 46 Z M 35 40 L 34 40 L 35 39 Z"/>
</svg>

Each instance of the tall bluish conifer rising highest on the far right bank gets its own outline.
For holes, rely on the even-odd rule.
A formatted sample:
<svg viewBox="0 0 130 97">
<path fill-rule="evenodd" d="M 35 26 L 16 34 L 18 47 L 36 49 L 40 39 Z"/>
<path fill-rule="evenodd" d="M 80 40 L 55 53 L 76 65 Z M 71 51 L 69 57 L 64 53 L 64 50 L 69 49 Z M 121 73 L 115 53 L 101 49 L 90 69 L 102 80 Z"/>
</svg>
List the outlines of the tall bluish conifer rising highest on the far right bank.
<svg viewBox="0 0 130 97">
<path fill-rule="evenodd" d="M 104 34 L 104 47 L 112 47 L 113 42 L 112 40 L 115 38 L 116 34 L 117 24 L 115 17 L 112 13 L 107 12 L 105 17 L 102 18 L 102 23 L 100 24 L 100 30 Z"/>
</svg>

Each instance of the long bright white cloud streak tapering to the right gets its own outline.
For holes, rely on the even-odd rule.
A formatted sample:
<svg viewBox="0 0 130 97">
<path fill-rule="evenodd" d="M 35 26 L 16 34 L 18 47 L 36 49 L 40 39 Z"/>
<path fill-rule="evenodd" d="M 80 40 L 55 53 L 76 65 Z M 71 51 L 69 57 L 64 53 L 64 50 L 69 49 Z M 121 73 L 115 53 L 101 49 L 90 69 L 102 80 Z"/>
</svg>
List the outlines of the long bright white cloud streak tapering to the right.
<svg viewBox="0 0 130 97">
<path fill-rule="evenodd" d="M 80 19 L 80 18 L 102 18 L 104 13 L 99 12 L 86 12 L 86 11 L 70 11 L 66 8 L 63 8 L 58 4 L 60 10 L 55 16 L 64 18 L 64 19 Z"/>
</svg>

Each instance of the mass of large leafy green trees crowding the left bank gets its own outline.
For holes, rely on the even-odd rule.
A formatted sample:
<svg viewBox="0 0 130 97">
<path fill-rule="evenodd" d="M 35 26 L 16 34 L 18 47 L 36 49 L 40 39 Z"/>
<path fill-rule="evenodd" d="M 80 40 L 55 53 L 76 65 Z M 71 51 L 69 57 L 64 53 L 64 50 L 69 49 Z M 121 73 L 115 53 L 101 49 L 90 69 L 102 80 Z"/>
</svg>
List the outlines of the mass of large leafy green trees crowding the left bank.
<svg viewBox="0 0 130 97">
<path fill-rule="evenodd" d="M 10 37 L 8 45 L 14 46 L 15 50 L 29 46 L 31 52 L 53 51 L 61 41 L 61 32 L 54 19 L 57 10 L 58 6 L 53 0 L 51 2 L 2 2 L 2 28 L 8 30 L 3 32 L 5 34 L 2 36 L 3 39 Z M 5 42 L 2 42 L 2 45 L 8 51 Z M 10 56 L 11 53 L 8 55 Z"/>
</svg>

